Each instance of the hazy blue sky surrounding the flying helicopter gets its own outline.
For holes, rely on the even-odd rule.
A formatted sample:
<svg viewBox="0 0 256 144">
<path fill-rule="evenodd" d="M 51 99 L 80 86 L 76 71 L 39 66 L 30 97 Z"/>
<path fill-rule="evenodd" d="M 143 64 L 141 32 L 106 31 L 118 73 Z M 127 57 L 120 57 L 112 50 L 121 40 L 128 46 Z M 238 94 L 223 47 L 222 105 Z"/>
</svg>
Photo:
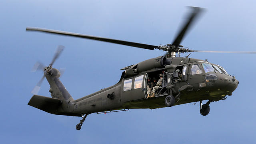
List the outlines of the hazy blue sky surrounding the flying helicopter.
<svg viewBox="0 0 256 144">
<path fill-rule="evenodd" d="M 81 38 L 25 32 L 27 26 L 140 42 L 168 44 L 175 37 L 186 6 L 206 8 L 182 41 L 194 50 L 256 51 L 256 21 L 252 0 L 122 2 L 118 0 L 10 0 L 0 5 L 1 118 L 4 143 L 255 143 L 255 60 L 253 54 L 192 53 L 223 66 L 240 81 L 226 100 L 210 104 L 201 116 L 199 103 L 90 114 L 80 131 L 80 118 L 57 116 L 27 103 L 42 72 L 30 72 L 40 60 L 49 64 L 58 45 L 64 45 L 55 68 L 66 68 L 61 81 L 74 99 L 112 86 L 121 68 L 162 55 Z M 186 56 L 185 54 L 182 56 Z M 50 96 L 46 80 L 39 95 Z M 206 102 L 206 101 L 205 101 Z M 205 103 L 204 102 L 204 103 Z"/>
</svg>

